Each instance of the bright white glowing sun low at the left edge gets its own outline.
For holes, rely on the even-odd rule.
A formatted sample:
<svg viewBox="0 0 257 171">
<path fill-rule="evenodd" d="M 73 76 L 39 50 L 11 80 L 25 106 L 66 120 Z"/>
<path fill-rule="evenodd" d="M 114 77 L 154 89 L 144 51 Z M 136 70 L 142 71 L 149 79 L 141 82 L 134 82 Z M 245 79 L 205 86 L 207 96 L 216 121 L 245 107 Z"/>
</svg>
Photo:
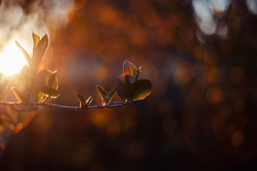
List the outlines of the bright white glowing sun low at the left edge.
<svg viewBox="0 0 257 171">
<path fill-rule="evenodd" d="M 21 71 L 28 64 L 20 49 L 14 42 L 5 46 L 0 53 L 0 73 L 13 75 Z"/>
</svg>

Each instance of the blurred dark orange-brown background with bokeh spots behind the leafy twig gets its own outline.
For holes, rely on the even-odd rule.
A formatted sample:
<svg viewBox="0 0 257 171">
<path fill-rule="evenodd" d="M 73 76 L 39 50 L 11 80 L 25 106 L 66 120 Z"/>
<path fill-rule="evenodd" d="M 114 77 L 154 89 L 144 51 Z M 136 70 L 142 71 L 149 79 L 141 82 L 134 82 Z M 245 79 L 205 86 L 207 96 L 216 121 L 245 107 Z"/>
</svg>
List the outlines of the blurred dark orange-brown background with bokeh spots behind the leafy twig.
<svg viewBox="0 0 257 171">
<path fill-rule="evenodd" d="M 124 60 L 153 84 L 120 108 L 44 108 L 6 145 L 0 170 L 257 168 L 256 0 L 3 0 L 0 49 L 49 36 L 60 97 L 116 86 Z M 114 101 L 120 101 L 117 94 Z"/>
</svg>

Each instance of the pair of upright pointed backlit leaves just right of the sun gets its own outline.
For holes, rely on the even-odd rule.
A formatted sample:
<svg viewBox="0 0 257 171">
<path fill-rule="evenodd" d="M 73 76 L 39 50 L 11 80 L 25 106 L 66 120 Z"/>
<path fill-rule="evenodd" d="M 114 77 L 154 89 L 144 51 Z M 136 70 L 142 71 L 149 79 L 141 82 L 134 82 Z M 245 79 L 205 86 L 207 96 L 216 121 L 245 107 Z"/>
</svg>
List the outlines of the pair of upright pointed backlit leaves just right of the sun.
<svg viewBox="0 0 257 171">
<path fill-rule="evenodd" d="M 33 34 L 32 34 L 32 37 L 33 37 Z M 38 68 L 38 64 L 43 58 L 45 50 L 47 49 L 47 46 L 48 46 L 47 34 L 45 34 L 38 43 L 37 41 L 38 41 L 38 36 L 36 36 L 35 34 L 35 40 L 33 37 L 34 47 L 33 47 L 32 61 L 34 65 Z"/>
</svg>

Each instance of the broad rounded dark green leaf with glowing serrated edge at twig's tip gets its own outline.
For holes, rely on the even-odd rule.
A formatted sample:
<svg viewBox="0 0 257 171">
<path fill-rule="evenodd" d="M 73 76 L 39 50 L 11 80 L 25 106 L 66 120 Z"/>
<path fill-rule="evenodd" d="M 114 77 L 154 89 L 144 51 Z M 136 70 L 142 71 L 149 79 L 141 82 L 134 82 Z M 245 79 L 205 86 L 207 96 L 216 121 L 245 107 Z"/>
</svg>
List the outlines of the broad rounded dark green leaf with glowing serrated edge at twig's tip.
<svg viewBox="0 0 257 171">
<path fill-rule="evenodd" d="M 147 79 L 140 79 L 128 86 L 123 96 L 129 100 L 142 100 L 152 92 L 152 83 Z"/>
</svg>

